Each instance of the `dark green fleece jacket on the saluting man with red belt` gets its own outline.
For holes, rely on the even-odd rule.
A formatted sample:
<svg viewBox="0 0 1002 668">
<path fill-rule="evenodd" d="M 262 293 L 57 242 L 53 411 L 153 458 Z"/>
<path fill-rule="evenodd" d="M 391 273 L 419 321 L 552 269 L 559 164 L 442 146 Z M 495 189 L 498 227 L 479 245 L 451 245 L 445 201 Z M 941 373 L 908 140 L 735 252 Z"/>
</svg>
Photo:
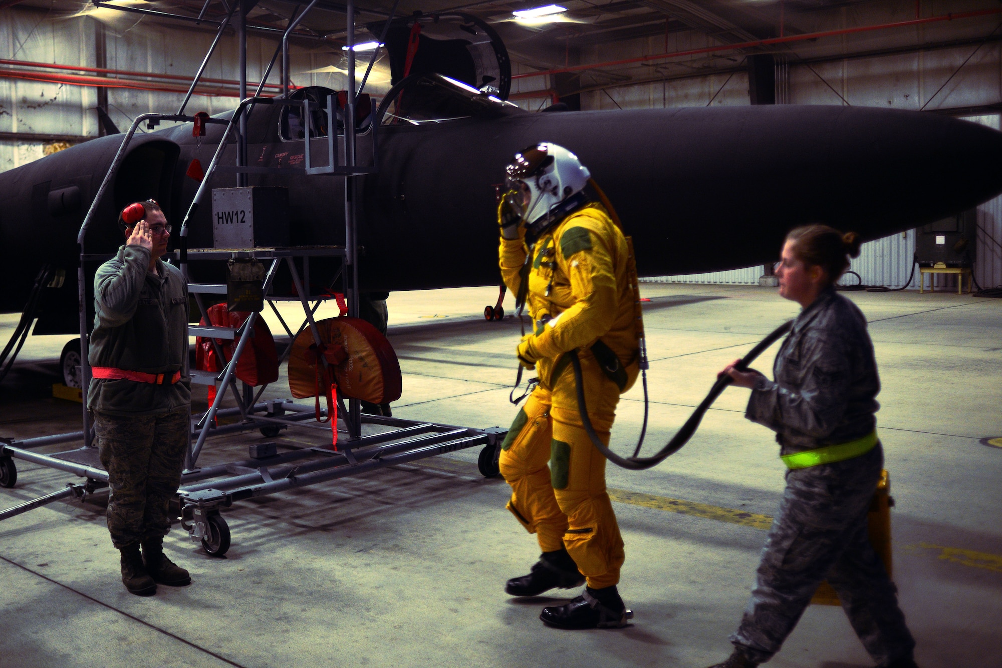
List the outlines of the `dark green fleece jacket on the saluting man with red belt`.
<svg viewBox="0 0 1002 668">
<path fill-rule="evenodd" d="M 186 370 L 187 285 L 176 267 L 149 251 L 122 246 L 94 276 L 94 331 L 87 356 L 92 367 L 172 375 Z M 87 408 L 108 415 L 169 413 L 191 403 L 191 383 L 174 384 L 93 378 Z"/>
</svg>

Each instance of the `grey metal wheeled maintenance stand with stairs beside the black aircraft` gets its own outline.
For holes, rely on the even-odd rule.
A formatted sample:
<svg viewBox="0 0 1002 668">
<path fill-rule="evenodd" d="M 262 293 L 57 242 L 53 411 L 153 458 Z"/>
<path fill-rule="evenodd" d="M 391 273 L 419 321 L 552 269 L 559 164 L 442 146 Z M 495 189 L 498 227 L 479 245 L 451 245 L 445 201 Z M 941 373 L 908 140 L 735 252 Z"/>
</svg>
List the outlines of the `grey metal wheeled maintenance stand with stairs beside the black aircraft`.
<svg viewBox="0 0 1002 668">
<path fill-rule="evenodd" d="M 108 485 L 108 474 L 101 468 L 97 447 L 95 447 L 94 433 L 91 425 L 91 418 L 87 411 L 87 389 L 91 378 L 90 367 L 87 363 L 88 334 L 90 323 L 88 322 L 88 304 L 92 299 L 91 291 L 87 289 L 89 285 L 86 280 L 86 267 L 94 266 L 94 263 L 104 262 L 111 256 L 109 254 L 90 254 L 84 248 L 84 238 L 88 226 L 92 223 L 98 204 L 108 190 L 109 184 L 114 180 L 118 169 L 126 155 L 126 150 L 131 143 L 136 130 L 145 124 L 146 128 L 152 130 L 161 122 L 185 122 L 195 126 L 203 127 L 204 124 L 221 124 L 225 129 L 216 146 L 212 161 L 205 170 L 204 178 L 195 193 L 194 199 L 188 207 L 187 213 L 180 229 L 180 248 L 176 251 L 170 261 L 178 266 L 188 280 L 189 293 L 194 297 L 198 309 L 201 312 L 202 320 L 210 323 L 208 312 L 202 300 L 202 295 L 214 294 L 225 295 L 227 286 L 225 284 L 204 284 L 193 283 L 188 279 L 188 265 L 191 262 L 225 262 L 228 260 L 257 260 L 268 264 L 268 271 L 263 282 L 263 294 L 269 306 L 279 314 L 276 302 L 296 299 L 303 307 L 304 321 L 297 331 L 293 331 L 279 315 L 280 322 L 286 332 L 291 337 L 290 346 L 287 348 L 280 363 L 288 358 L 292 350 L 292 344 L 297 336 L 306 328 L 312 332 L 314 343 L 322 343 L 318 331 L 317 323 L 314 320 L 314 313 L 320 304 L 333 296 L 331 291 L 325 294 L 310 294 L 309 277 L 301 275 L 297 266 L 297 261 L 301 263 L 304 272 L 309 272 L 309 260 L 311 257 L 336 258 L 340 260 L 341 268 L 331 281 L 334 285 L 340 281 L 342 292 L 347 297 L 348 315 L 357 317 L 359 312 L 358 293 L 358 244 L 356 243 L 358 230 L 358 215 L 355 206 L 355 179 L 358 176 L 375 173 L 378 169 L 376 164 L 378 141 L 378 119 L 373 118 L 370 122 L 369 136 L 373 142 L 373 162 L 372 166 L 362 167 L 356 161 L 356 124 L 348 122 L 347 119 L 356 118 L 356 104 L 362 90 L 365 87 L 369 72 L 379 56 L 379 48 L 374 51 L 369 62 L 365 77 L 362 80 L 359 90 L 355 91 L 355 15 L 356 9 L 354 0 L 348 0 L 346 8 L 347 17 L 347 54 L 348 73 L 347 80 L 351 90 L 346 96 L 347 103 L 339 107 L 337 93 L 332 94 L 327 101 L 327 155 L 329 157 L 327 165 L 315 166 L 311 162 L 311 141 L 310 123 L 304 123 L 305 129 L 305 161 L 304 166 L 299 169 L 269 168 L 269 167 L 248 167 L 246 166 L 246 121 L 247 116 L 257 105 L 287 105 L 301 106 L 303 108 L 303 119 L 311 118 L 311 101 L 309 99 L 290 99 L 289 85 L 289 38 L 293 34 L 300 22 L 317 5 L 319 0 L 312 0 L 309 5 L 298 16 L 291 17 L 288 27 L 283 33 L 282 43 L 268 65 L 265 75 L 258 86 L 258 90 L 253 96 L 247 96 L 246 90 L 246 25 L 245 13 L 247 9 L 240 2 L 233 2 L 226 7 L 227 15 L 219 23 L 218 30 L 212 44 L 209 46 L 198 72 L 194 76 L 187 95 L 184 97 L 180 108 L 173 114 L 142 114 L 138 116 L 125 134 L 121 146 L 118 148 L 114 160 L 111 163 L 100 188 L 91 203 L 90 209 L 80 226 L 77 242 L 80 246 L 80 263 L 78 268 L 79 289 L 78 300 L 80 309 L 80 352 L 81 368 L 80 379 L 83 392 L 83 429 L 77 432 L 66 434 L 56 434 L 38 438 L 23 440 L 0 439 L 0 486 L 13 487 L 17 482 L 17 468 L 15 459 L 33 462 L 42 466 L 73 473 L 85 482 L 82 484 L 71 483 L 66 488 L 28 501 L 13 508 L 0 511 L 0 520 L 19 515 L 33 508 L 41 507 L 58 499 L 73 497 L 78 500 L 85 499 L 98 490 L 106 488 Z M 141 8 L 115 6 L 100 2 L 95 5 L 134 13 L 143 13 L 149 10 Z M 239 12 L 235 10 L 241 8 Z M 240 99 L 241 102 L 228 119 L 211 118 L 205 114 L 194 116 L 185 114 L 187 103 L 194 92 L 195 86 L 205 70 L 205 66 L 211 58 L 223 31 L 226 29 L 234 12 L 236 14 L 236 32 L 239 49 L 239 76 L 240 76 Z M 163 12 L 150 12 L 159 17 L 173 17 L 179 20 L 189 20 L 191 17 L 174 16 Z M 386 30 L 393 21 L 396 8 L 391 12 L 384 27 L 384 38 Z M 383 43 L 383 39 L 380 43 Z M 382 47 L 380 47 L 382 48 Z M 262 97 L 264 89 L 272 68 L 279 55 L 282 55 L 282 88 L 283 95 L 278 98 Z M 341 111 L 344 122 L 344 140 L 341 144 L 337 128 L 337 115 Z M 226 143 L 231 135 L 236 137 L 236 160 L 235 165 L 221 165 L 220 158 Z M 339 156 L 343 155 L 344 163 L 340 163 Z M 239 248 L 239 249 L 188 249 L 188 223 L 200 203 L 205 198 L 205 191 L 211 176 L 216 172 L 232 172 L 236 174 L 236 186 L 245 187 L 246 175 L 254 174 L 290 174 L 312 176 L 322 178 L 323 176 L 334 176 L 345 179 L 345 237 L 344 247 L 290 247 L 290 248 Z M 281 268 L 285 266 L 292 278 L 296 288 L 296 297 L 280 297 L 273 294 L 275 278 Z M 306 278 L 306 280 L 304 280 Z M 259 314 L 252 312 L 248 317 L 238 327 L 214 327 L 211 325 L 188 326 L 190 336 L 202 336 L 211 341 L 211 345 L 216 354 L 216 359 L 222 361 L 225 357 L 218 345 L 217 340 L 228 339 L 235 341 L 233 353 L 228 362 L 223 365 L 219 373 L 202 372 L 185 368 L 183 373 L 189 375 L 191 382 L 217 385 L 221 388 L 208 406 L 208 409 L 200 416 L 192 417 L 191 429 L 189 431 L 188 448 L 185 455 L 185 468 L 181 476 L 181 487 L 177 493 L 179 504 L 179 516 L 181 525 L 188 531 L 194 541 L 200 541 L 204 550 L 214 556 L 223 555 L 230 545 L 230 533 L 225 520 L 219 514 L 219 509 L 228 507 L 236 501 L 243 499 L 276 494 L 294 487 L 305 487 L 327 480 L 335 480 L 350 475 L 374 471 L 388 466 L 395 466 L 412 462 L 426 457 L 432 457 L 446 452 L 453 452 L 466 448 L 482 446 L 482 451 L 478 459 L 480 472 L 488 477 L 498 474 L 498 455 L 500 454 L 501 440 L 507 430 L 501 428 L 473 429 L 468 427 L 458 427 L 451 425 L 436 424 L 432 422 L 414 422 L 401 420 L 385 416 L 366 415 L 361 411 L 361 402 L 358 399 L 349 399 L 347 410 L 345 397 L 339 393 L 336 397 L 339 410 L 337 411 L 337 422 L 332 421 L 331 427 L 321 426 L 311 423 L 314 417 L 327 417 L 326 409 L 315 410 L 313 406 L 303 406 L 294 403 L 292 400 L 280 399 L 270 401 L 260 401 L 267 385 L 263 385 L 255 395 L 248 386 L 244 386 L 243 392 L 237 389 L 235 380 L 236 365 L 248 344 L 249 338 L 254 335 L 254 327 Z M 321 361 L 327 367 L 326 359 L 321 356 Z M 185 366 L 187 361 L 185 360 Z M 226 391 L 236 401 L 235 408 L 221 408 L 221 402 Z M 235 418 L 238 421 L 232 424 L 217 425 L 217 418 Z M 221 436 L 239 432 L 249 432 L 258 430 L 267 437 L 275 437 L 280 430 L 296 428 L 323 430 L 330 433 L 331 428 L 344 432 L 347 439 L 340 440 L 337 449 L 331 446 L 311 447 L 283 454 L 278 453 L 274 443 L 261 443 L 260 441 L 250 444 L 248 457 L 244 460 L 227 462 L 211 466 L 199 466 L 198 459 L 202 454 L 206 441 L 210 436 Z M 71 443 L 83 441 L 83 447 L 74 448 L 65 452 L 54 454 L 39 454 L 32 452 L 33 449 L 42 446 L 51 446 L 61 443 Z"/>
</svg>

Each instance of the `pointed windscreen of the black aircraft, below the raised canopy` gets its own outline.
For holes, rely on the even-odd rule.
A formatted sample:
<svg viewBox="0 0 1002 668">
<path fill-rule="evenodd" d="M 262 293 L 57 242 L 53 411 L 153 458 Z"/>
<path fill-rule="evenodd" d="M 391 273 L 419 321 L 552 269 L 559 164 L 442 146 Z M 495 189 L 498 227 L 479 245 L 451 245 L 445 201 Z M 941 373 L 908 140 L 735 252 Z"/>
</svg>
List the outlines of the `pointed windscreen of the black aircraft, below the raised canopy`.
<svg viewBox="0 0 1002 668">
<path fill-rule="evenodd" d="M 386 96 L 381 125 L 428 125 L 525 113 L 490 92 L 441 74 L 404 80 Z"/>
</svg>

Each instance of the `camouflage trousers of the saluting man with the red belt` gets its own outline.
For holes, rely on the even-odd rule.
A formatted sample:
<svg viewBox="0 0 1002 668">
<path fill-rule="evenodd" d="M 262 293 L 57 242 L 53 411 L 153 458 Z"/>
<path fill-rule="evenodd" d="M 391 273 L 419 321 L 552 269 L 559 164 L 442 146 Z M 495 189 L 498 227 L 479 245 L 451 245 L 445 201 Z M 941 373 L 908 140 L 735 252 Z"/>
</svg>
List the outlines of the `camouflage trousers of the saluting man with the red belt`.
<svg viewBox="0 0 1002 668">
<path fill-rule="evenodd" d="M 108 531 L 121 548 L 170 531 L 167 504 L 177 492 L 187 446 L 187 407 L 163 415 L 94 413 L 101 464 L 108 472 Z"/>
</svg>

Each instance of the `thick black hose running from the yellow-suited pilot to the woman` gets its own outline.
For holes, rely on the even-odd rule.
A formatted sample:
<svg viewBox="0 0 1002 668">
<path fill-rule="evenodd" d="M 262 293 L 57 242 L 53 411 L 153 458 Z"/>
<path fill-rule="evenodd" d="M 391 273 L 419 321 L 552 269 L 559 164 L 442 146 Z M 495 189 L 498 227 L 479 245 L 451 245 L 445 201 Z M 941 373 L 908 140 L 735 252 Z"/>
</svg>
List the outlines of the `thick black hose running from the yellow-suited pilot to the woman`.
<svg viewBox="0 0 1002 668">
<path fill-rule="evenodd" d="M 762 342 L 748 352 L 747 355 L 741 358 L 741 360 L 735 365 L 735 368 L 743 371 L 747 368 L 747 365 L 755 361 L 759 355 L 763 353 L 767 348 L 776 343 L 776 341 L 784 336 L 793 327 L 794 321 L 789 320 L 779 327 L 777 327 L 773 332 L 767 336 Z M 675 454 L 681 450 L 682 446 L 685 445 L 695 430 L 699 427 L 699 423 L 702 421 L 702 416 L 706 413 L 709 407 L 716 401 L 716 398 L 720 396 L 723 389 L 732 382 L 730 376 L 722 376 L 718 378 L 713 387 L 709 390 L 709 394 L 706 398 L 702 400 L 689 419 L 685 421 L 682 428 L 671 437 L 671 440 L 661 448 L 661 450 L 652 457 L 638 457 L 634 454 L 633 457 L 620 457 L 616 453 L 609 450 L 609 448 L 602 443 L 602 440 L 598 438 L 598 434 L 595 433 L 594 427 L 591 426 L 591 419 L 588 417 L 588 407 L 584 403 L 584 379 L 581 374 L 581 362 L 577 358 L 577 351 L 572 350 L 567 355 L 570 356 L 570 362 L 574 367 L 574 383 L 577 386 L 577 407 L 578 411 L 581 413 L 581 422 L 584 425 L 584 430 L 588 433 L 588 438 L 591 439 L 592 444 L 598 448 L 598 451 L 605 455 L 605 458 L 616 466 L 621 466 L 624 469 L 632 469 L 634 471 L 642 471 L 643 469 L 649 469 L 653 466 L 657 466 L 662 461 Z M 645 425 L 646 426 L 646 425 Z M 640 445 L 643 444 L 641 436 L 641 442 L 637 445 L 636 452 L 639 452 Z"/>
</svg>

